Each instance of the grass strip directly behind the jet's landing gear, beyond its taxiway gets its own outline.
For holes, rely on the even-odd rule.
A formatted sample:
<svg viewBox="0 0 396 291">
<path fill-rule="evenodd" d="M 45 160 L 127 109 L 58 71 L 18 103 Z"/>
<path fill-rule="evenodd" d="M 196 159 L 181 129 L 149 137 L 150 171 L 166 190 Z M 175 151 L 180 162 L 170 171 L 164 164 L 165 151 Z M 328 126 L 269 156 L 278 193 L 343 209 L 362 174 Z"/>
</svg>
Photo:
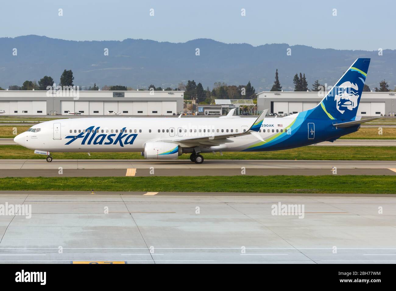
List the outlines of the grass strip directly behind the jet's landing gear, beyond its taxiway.
<svg viewBox="0 0 396 291">
<path fill-rule="evenodd" d="M 341 151 L 342 149 L 342 151 Z M 303 146 L 274 152 L 223 152 L 202 154 L 207 160 L 360 160 L 389 161 L 396 159 L 396 146 Z M 84 160 L 135 160 L 143 159 L 140 152 L 53 152 L 54 159 Z M 189 154 L 179 159 L 189 159 Z M 45 156 L 34 154 L 33 150 L 17 145 L 1 145 L 0 159 L 43 159 Z"/>
</svg>

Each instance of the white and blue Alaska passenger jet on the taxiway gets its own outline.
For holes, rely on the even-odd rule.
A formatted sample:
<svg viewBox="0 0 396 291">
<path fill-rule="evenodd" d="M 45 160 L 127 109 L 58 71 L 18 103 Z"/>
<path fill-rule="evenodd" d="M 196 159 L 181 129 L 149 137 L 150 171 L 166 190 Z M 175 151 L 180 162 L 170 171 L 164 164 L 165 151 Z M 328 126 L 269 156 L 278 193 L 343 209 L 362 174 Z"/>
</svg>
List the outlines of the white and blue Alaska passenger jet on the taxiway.
<svg viewBox="0 0 396 291">
<path fill-rule="evenodd" d="M 284 150 L 335 141 L 380 117 L 356 116 L 370 59 L 359 58 L 314 108 L 278 118 L 125 117 L 78 118 L 43 122 L 17 135 L 15 143 L 47 155 L 50 152 L 141 152 L 147 159 L 176 159 L 190 154 L 202 164 L 206 152 Z"/>
</svg>

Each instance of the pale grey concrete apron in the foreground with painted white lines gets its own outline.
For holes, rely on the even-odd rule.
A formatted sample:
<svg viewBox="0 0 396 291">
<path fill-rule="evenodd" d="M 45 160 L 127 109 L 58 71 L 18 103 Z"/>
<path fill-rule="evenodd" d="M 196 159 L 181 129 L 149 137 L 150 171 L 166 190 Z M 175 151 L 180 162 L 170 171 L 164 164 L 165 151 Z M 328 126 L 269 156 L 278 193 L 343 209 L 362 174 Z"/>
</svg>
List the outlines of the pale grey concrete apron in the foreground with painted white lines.
<svg viewBox="0 0 396 291">
<path fill-rule="evenodd" d="M 394 197 L 169 194 L 0 192 L 0 263 L 396 262 Z"/>
</svg>

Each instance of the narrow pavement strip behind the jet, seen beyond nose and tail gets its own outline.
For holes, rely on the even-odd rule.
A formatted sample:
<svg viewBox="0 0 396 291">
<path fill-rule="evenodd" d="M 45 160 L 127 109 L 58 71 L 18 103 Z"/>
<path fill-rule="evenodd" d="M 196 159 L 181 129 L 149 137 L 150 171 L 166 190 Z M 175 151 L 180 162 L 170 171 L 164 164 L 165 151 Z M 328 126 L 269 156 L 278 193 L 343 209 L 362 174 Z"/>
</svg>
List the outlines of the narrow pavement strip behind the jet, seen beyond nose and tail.
<svg viewBox="0 0 396 291">
<path fill-rule="evenodd" d="M 0 145 L 17 145 L 13 139 L 0 139 Z M 311 146 L 396 146 L 396 139 L 338 139 Z"/>
</svg>

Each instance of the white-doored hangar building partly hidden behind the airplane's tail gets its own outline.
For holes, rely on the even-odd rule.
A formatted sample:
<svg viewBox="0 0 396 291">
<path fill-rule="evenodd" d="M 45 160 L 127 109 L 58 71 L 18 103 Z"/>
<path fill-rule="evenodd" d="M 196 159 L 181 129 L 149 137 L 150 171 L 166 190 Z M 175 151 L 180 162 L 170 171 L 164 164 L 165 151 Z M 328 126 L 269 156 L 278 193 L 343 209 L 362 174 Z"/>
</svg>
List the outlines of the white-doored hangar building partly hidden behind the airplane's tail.
<svg viewBox="0 0 396 291">
<path fill-rule="evenodd" d="M 319 94 L 318 94 L 319 93 Z M 322 94 L 322 95 L 320 95 Z M 316 107 L 327 92 L 268 92 L 257 94 L 257 109 L 270 108 L 278 114 L 294 114 Z M 394 116 L 395 92 L 363 92 L 358 107 L 359 116 Z"/>
</svg>

